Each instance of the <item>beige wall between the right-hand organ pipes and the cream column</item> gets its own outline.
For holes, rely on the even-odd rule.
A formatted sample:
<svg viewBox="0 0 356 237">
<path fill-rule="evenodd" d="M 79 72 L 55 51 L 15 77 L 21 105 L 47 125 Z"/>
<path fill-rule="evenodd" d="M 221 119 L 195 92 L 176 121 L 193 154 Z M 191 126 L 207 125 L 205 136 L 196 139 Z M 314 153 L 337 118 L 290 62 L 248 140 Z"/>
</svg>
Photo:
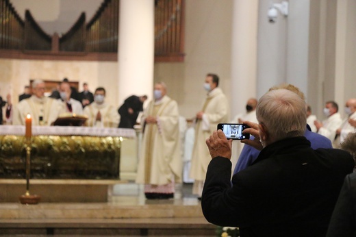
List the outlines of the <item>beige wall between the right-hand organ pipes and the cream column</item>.
<svg viewBox="0 0 356 237">
<path fill-rule="evenodd" d="M 186 58 L 183 63 L 155 64 L 155 82 L 166 82 L 168 94 L 186 118 L 201 110 L 207 73 L 220 77 L 219 86 L 229 98 L 232 10 L 231 0 L 186 1 Z"/>
</svg>

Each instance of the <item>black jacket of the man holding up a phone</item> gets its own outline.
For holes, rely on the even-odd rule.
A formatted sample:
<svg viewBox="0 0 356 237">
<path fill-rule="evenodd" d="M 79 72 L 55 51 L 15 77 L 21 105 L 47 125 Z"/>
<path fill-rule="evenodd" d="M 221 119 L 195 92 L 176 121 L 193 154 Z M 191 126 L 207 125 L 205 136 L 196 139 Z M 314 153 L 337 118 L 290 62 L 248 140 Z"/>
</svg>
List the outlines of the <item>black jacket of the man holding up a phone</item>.
<svg viewBox="0 0 356 237">
<path fill-rule="evenodd" d="M 305 137 L 268 145 L 231 181 L 231 162 L 214 158 L 203 214 L 216 225 L 240 227 L 242 237 L 325 236 L 344 177 L 354 166 L 350 153 L 314 150 Z"/>
</svg>

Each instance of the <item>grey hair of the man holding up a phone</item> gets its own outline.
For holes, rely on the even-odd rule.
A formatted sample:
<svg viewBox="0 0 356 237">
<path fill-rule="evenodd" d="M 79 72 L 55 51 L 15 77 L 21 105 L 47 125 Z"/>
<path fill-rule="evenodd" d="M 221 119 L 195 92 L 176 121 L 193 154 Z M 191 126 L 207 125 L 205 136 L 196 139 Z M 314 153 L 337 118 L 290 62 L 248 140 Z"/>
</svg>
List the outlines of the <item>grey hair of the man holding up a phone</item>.
<svg viewBox="0 0 356 237">
<path fill-rule="evenodd" d="M 304 136 L 307 127 L 305 106 L 305 101 L 290 90 L 271 90 L 259 99 L 256 116 L 275 140 Z"/>
</svg>

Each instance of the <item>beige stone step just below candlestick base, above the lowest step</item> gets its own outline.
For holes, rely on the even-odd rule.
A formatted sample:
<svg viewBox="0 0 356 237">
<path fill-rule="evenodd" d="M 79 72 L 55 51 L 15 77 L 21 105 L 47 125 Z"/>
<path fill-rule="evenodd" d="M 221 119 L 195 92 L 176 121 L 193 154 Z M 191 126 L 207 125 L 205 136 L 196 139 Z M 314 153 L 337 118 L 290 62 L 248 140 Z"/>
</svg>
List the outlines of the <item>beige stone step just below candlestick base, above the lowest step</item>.
<svg viewBox="0 0 356 237">
<path fill-rule="evenodd" d="M 110 205 L 107 203 L 1 203 L 3 219 L 142 219 L 202 217 L 200 205 Z"/>
</svg>

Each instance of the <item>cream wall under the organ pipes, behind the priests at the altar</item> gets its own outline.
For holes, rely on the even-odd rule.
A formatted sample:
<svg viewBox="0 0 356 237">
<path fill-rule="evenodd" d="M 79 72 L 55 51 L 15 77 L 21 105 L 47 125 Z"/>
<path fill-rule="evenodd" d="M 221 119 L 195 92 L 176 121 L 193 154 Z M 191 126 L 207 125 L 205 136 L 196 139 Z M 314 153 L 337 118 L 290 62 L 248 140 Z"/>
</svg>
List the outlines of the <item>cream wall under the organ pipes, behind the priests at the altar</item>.
<svg viewBox="0 0 356 237">
<path fill-rule="evenodd" d="M 30 79 L 60 82 L 67 77 L 69 81 L 79 82 L 79 91 L 84 82 L 92 91 L 103 86 L 107 90 L 107 102 L 118 106 L 116 87 L 112 86 L 117 81 L 116 65 L 116 62 L 0 59 L 0 95 L 5 98 L 10 92 L 16 104 Z"/>
</svg>

